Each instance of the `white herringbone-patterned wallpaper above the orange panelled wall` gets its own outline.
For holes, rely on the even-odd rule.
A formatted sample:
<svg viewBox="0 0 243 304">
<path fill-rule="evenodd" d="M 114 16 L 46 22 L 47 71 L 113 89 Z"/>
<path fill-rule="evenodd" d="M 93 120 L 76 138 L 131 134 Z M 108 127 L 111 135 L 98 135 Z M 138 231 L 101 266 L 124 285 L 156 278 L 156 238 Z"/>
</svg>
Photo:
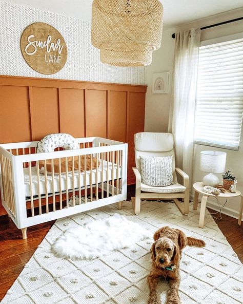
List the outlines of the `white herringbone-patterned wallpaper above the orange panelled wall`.
<svg viewBox="0 0 243 304">
<path fill-rule="evenodd" d="M 20 38 L 23 30 L 35 22 L 54 26 L 68 47 L 67 63 L 52 75 L 34 71 L 25 62 Z M 145 84 L 146 68 L 124 68 L 105 65 L 99 50 L 91 45 L 91 24 L 55 13 L 26 6 L 0 2 L 0 74 L 25 77 L 83 80 L 125 84 Z"/>
</svg>

